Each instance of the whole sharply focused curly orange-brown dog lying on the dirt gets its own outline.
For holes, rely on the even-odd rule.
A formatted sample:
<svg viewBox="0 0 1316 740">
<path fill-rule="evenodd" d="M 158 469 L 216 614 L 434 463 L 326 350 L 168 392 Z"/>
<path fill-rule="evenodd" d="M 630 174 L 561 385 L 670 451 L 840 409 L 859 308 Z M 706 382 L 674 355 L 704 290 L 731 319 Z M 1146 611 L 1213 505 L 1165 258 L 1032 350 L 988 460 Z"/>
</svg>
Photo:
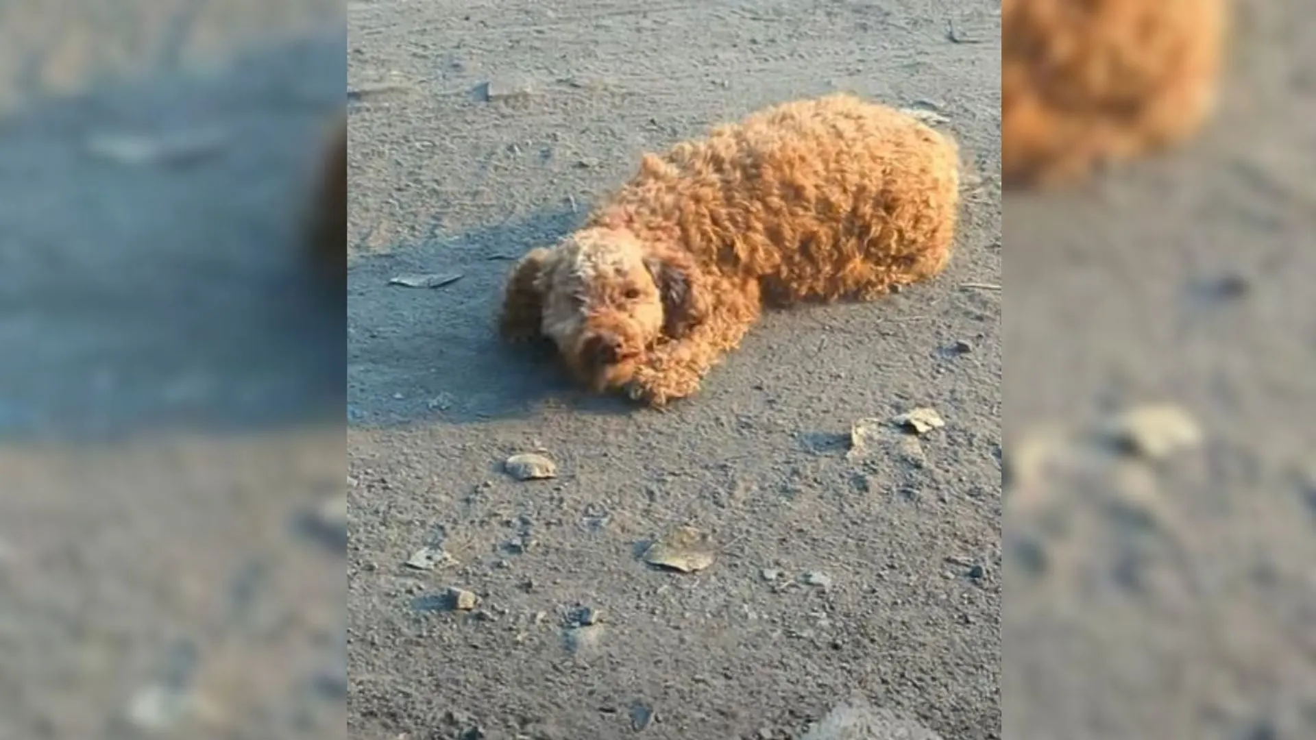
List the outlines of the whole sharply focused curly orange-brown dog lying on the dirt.
<svg viewBox="0 0 1316 740">
<path fill-rule="evenodd" d="M 694 394 L 765 304 L 871 300 L 950 258 L 959 161 L 911 116 L 829 95 L 644 157 L 584 226 L 507 283 L 501 332 L 590 387 Z"/>
</svg>

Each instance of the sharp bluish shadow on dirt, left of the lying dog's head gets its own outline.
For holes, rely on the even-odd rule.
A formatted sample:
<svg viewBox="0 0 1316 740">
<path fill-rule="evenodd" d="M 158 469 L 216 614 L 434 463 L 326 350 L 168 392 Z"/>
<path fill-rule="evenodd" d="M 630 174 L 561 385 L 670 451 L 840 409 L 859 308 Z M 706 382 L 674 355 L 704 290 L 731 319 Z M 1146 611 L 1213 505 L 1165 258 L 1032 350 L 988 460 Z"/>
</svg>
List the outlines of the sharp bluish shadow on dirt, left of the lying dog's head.
<svg viewBox="0 0 1316 740">
<path fill-rule="evenodd" d="M 497 336 L 515 261 L 578 223 L 569 209 L 545 211 L 357 259 L 347 274 L 349 424 L 470 424 L 526 417 L 545 406 L 634 410 L 626 399 L 582 391 L 547 342 L 508 345 Z M 461 277 L 432 288 L 390 284 L 404 275 Z"/>
</svg>

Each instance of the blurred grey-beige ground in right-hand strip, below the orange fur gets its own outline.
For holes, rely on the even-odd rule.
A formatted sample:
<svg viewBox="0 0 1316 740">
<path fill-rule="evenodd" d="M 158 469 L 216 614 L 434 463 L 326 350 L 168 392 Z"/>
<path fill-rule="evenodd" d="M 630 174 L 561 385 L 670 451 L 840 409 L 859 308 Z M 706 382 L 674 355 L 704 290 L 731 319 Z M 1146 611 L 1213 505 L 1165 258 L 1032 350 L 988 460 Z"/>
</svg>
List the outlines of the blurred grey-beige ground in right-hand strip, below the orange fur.
<svg viewBox="0 0 1316 740">
<path fill-rule="evenodd" d="M 1240 0 L 1204 129 L 1005 199 L 1005 737 L 1316 737 L 1313 11 Z"/>
</svg>

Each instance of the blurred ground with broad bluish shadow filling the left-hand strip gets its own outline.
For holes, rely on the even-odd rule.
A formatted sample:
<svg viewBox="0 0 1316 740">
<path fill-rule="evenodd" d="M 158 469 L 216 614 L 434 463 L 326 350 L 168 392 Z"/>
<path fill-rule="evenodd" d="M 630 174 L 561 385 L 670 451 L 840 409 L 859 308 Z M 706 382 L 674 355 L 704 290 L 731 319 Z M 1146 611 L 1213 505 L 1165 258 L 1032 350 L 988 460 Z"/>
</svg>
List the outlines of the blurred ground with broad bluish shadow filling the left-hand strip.
<svg viewBox="0 0 1316 740">
<path fill-rule="evenodd" d="M 0 739 L 343 733 L 343 22 L 0 4 Z"/>
</svg>

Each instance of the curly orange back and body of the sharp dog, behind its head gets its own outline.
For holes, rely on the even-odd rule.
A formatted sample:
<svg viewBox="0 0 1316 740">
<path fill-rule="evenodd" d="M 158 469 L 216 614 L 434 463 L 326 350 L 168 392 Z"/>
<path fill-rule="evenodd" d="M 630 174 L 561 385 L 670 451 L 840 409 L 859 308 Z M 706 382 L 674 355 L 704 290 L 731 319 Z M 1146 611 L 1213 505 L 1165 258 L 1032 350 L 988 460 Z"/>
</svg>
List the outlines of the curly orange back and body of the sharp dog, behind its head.
<svg viewBox="0 0 1316 740">
<path fill-rule="evenodd" d="M 595 221 L 679 232 L 699 262 L 779 302 L 866 299 L 941 271 L 958 200 L 954 140 L 842 93 L 646 155 Z"/>
</svg>

